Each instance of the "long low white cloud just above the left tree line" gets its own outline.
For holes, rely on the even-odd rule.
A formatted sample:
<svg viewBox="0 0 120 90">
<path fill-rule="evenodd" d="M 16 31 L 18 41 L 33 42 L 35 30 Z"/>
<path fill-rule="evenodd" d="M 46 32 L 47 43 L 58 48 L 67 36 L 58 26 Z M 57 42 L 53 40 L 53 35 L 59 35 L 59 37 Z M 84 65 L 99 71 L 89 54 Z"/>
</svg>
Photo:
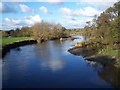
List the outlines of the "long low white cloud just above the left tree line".
<svg viewBox="0 0 120 90">
<path fill-rule="evenodd" d="M 35 23 L 40 23 L 42 21 L 39 15 L 26 16 L 23 19 L 5 18 L 0 29 L 15 29 L 21 28 L 22 26 L 32 26 Z"/>
</svg>

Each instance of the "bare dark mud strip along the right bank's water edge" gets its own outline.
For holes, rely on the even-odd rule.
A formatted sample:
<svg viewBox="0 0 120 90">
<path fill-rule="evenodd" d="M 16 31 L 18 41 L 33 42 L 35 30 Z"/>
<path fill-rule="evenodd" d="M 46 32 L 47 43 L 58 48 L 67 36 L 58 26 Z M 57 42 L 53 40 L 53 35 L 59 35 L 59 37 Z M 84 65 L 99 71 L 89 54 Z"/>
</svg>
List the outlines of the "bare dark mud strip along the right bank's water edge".
<svg viewBox="0 0 120 90">
<path fill-rule="evenodd" d="M 70 53 L 78 56 L 85 57 L 88 61 L 101 63 L 102 65 L 114 65 L 117 60 L 110 56 L 101 56 L 98 54 L 97 49 L 87 49 L 84 47 L 74 47 L 68 50 Z"/>
</svg>

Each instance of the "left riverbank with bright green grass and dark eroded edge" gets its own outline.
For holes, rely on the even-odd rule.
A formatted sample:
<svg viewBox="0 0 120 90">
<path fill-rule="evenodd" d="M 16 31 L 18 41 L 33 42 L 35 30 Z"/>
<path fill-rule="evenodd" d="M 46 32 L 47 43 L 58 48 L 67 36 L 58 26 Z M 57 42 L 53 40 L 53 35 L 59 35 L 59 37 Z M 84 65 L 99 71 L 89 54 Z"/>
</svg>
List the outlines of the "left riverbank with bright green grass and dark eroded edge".
<svg viewBox="0 0 120 90">
<path fill-rule="evenodd" d="M 2 57 L 4 57 L 12 48 L 35 43 L 37 43 L 37 41 L 30 37 L 3 38 L 1 44 Z"/>
</svg>

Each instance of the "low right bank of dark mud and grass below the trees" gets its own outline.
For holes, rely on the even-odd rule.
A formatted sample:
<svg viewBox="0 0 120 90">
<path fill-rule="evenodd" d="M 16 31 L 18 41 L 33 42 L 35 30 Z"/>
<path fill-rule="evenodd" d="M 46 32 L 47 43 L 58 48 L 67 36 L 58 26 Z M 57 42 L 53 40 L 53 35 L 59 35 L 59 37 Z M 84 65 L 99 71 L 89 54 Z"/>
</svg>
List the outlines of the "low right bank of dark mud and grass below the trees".
<svg viewBox="0 0 120 90">
<path fill-rule="evenodd" d="M 98 50 L 97 48 L 74 47 L 68 51 L 74 55 L 81 55 L 88 61 L 98 62 L 102 65 L 120 67 L 119 51 L 110 48 Z"/>
</svg>

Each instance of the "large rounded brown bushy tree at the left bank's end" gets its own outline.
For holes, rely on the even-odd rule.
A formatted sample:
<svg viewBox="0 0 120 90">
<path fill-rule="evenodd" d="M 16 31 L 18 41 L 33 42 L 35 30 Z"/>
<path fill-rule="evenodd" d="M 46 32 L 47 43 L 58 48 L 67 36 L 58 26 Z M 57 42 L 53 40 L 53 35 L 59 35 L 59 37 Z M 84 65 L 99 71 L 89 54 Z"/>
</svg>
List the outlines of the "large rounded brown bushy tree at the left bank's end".
<svg viewBox="0 0 120 90">
<path fill-rule="evenodd" d="M 38 41 L 38 43 L 48 39 L 63 37 L 65 35 L 64 30 L 65 28 L 60 24 L 43 21 L 32 26 L 33 37 Z"/>
</svg>

